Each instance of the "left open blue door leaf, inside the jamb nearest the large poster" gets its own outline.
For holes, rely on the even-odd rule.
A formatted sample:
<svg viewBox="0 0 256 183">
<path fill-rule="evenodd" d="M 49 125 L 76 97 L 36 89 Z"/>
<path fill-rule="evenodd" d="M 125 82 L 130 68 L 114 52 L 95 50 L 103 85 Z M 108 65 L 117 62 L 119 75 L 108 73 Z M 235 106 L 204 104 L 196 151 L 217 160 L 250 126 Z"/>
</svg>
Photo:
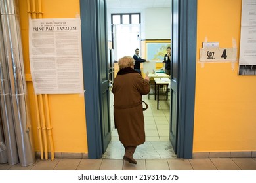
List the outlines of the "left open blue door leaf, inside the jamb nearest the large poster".
<svg viewBox="0 0 256 183">
<path fill-rule="evenodd" d="M 102 129 L 102 154 L 106 151 L 111 141 L 110 123 L 110 84 L 109 84 L 109 60 L 108 60 L 108 31 L 106 18 L 106 0 L 97 2 L 97 31 L 98 31 L 98 74 L 100 88 L 100 118 Z"/>
</svg>

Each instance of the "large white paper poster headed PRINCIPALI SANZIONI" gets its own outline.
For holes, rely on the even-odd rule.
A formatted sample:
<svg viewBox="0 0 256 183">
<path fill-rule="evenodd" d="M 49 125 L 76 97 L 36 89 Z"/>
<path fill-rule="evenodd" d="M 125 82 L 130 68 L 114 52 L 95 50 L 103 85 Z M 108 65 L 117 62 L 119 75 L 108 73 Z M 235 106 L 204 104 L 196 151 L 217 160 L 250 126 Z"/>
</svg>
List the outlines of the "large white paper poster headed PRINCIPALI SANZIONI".
<svg viewBox="0 0 256 183">
<path fill-rule="evenodd" d="M 30 70 L 36 94 L 83 93 L 81 20 L 30 20 Z"/>
</svg>

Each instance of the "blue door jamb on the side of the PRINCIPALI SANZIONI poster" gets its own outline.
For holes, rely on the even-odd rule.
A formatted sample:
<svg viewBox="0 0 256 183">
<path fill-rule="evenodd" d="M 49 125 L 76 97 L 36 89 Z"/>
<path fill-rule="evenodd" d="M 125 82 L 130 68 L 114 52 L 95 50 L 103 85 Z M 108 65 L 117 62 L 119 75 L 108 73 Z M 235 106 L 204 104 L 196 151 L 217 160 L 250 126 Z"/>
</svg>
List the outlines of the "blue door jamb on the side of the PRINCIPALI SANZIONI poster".
<svg viewBox="0 0 256 183">
<path fill-rule="evenodd" d="M 102 158 L 102 134 L 100 88 L 98 85 L 98 48 L 96 45 L 96 1 L 80 0 L 80 13 L 88 158 L 98 159 Z"/>
</svg>

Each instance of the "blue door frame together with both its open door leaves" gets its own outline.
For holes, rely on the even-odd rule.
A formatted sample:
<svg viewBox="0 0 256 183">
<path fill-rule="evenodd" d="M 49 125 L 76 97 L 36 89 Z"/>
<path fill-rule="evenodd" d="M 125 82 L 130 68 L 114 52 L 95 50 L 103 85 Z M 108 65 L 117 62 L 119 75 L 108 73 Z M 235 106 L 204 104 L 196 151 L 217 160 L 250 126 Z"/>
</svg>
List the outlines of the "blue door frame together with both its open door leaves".
<svg viewBox="0 0 256 183">
<path fill-rule="evenodd" d="M 110 140 L 111 134 L 110 123 L 105 123 L 110 122 L 108 116 L 110 111 L 104 103 L 110 99 L 110 95 L 108 95 L 109 91 L 103 90 L 106 88 L 105 74 L 107 75 L 104 64 L 107 63 L 108 58 L 107 46 L 104 42 L 106 41 L 106 17 L 104 17 L 106 1 L 80 1 L 80 5 L 88 157 L 98 159 L 102 158 L 106 147 L 104 141 Z M 172 94 L 175 93 L 175 102 L 171 102 L 171 108 L 175 110 L 170 111 L 170 129 L 174 135 L 177 157 L 191 159 L 196 66 L 196 0 L 173 0 L 171 5 L 173 10 L 177 11 L 172 13 L 172 20 L 175 22 L 172 24 L 171 37 L 172 46 L 177 46 L 177 50 L 173 51 L 173 61 L 176 64 L 173 68 L 177 76 L 171 78 L 176 85 L 171 89 Z M 180 52 L 182 54 L 179 54 Z"/>
</svg>

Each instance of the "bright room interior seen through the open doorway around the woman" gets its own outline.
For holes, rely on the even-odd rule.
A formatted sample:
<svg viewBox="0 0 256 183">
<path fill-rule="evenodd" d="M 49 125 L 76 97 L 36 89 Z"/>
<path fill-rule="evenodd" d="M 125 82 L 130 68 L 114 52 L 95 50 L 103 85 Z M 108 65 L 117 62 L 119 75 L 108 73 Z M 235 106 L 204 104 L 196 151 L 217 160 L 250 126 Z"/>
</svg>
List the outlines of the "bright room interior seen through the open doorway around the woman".
<svg viewBox="0 0 256 183">
<path fill-rule="evenodd" d="M 163 56 L 171 41 L 171 2 L 108 0 L 107 3 L 108 45 L 114 49 L 114 75 L 116 76 L 119 71 L 117 60 L 121 56 L 133 56 L 135 48 L 140 49 L 141 58 L 149 60 L 149 63 L 140 63 L 142 76 L 145 76 L 146 71 L 149 70 L 150 63 L 154 65 L 150 73 L 158 71 L 163 73 Z M 132 19 L 130 21 L 129 16 Z M 163 56 L 161 54 L 157 57 L 151 56 L 160 49 L 158 45 L 162 47 L 160 48 Z M 149 105 L 148 110 L 144 111 L 146 142 L 137 147 L 134 157 L 136 159 L 177 158 L 169 140 L 170 95 L 167 93 L 169 96 L 165 96 L 168 88 L 160 86 L 159 92 L 163 95 L 160 95 L 157 106 L 158 100 L 154 97 L 156 93 L 154 78 L 150 78 L 150 82 L 151 94 L 143 96 L 143 101 Z M 122 159 L 124 148 L 119 141 L 117 129 L 114 128 L 113 100 L 113 93 L 110 92 L 112 140 L 102 158 Z"/>
</svg>

